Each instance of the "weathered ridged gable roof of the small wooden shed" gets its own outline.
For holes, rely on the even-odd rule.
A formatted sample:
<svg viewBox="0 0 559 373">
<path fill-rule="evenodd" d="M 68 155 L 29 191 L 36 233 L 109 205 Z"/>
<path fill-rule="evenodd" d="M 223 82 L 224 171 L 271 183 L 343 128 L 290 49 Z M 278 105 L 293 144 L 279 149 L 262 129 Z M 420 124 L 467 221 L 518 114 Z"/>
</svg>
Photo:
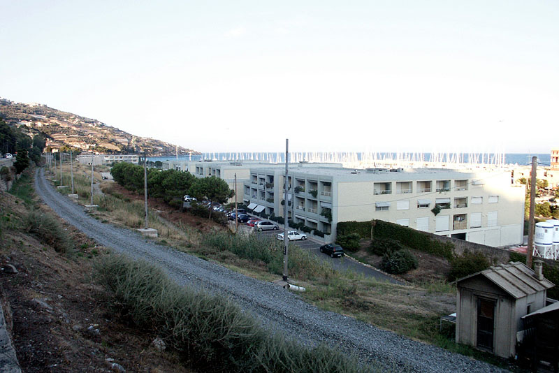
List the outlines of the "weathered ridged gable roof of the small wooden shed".
<svg viewBox="0 0 559 373">
<path fill-rule="evenodd" d="M 476 276 L 483 276 L 515 299 L 539 293 L 555 286 L 548 279 L 536 279 L 535 272 L 521 262 L 495 265 L 473 275 L 456 280 L 456 284 Z"/>
</svg>

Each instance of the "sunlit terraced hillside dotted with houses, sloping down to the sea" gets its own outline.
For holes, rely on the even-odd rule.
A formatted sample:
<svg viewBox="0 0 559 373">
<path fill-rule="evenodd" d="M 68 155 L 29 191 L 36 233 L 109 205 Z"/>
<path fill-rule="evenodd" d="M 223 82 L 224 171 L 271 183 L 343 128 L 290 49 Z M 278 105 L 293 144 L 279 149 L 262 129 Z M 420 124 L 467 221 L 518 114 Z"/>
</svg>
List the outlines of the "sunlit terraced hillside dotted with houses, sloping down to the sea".
<svg viewBox="0 0 559 373">
<path fill-rule="evenodd" d="M 147 152 L 151 156 L 174 155 L 176 147 L 168 142 L 143 138 L 108 126 L 96 119 L 80 117 L 71 112 L 41 104 L 15 103 L 0 98 L 0 118 L 19 127 L 30 136 L 41 133 L 47 147 L 72 147 L 82 152 L 131 154 Z M 179 154 L 200 154 L 192 149 L 178 148 Z"/>
</svg>

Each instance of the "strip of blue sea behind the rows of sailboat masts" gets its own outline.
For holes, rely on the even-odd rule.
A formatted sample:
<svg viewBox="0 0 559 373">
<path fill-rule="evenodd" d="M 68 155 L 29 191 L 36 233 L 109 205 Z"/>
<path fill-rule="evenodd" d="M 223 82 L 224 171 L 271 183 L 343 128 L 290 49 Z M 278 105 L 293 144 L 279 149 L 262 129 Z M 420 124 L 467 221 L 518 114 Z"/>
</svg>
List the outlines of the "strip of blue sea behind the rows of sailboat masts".
<svg viewBox="0 0 559 373">
<path fill-rule="evenodd" d="M 518 166 L 528 166 L 532 164 L 532 156 L 537 156 L 538 166 L 550 166 L 550 153 L 504 153 L 504 154 L 488 154 L 488 153 L 364 153 L 364 152 L 333 152 L 333 153 L 290 153 L 291 161 L 310 161 L 310 162 L 339 162 L 344 161 L 361 161 L 364 159 L 421 159 L 423 161 L 460 161 L 460 163 L 469 163 L 473 159 L 475 163 L 492 163 L 492 164 L 508 164 Z M 148 161 L 201 161 L 205 159 L 214 159 L 219 161 L 269 161 L 270 163 L 283 163 L 285 153 L 278 152 L 240 152 L 240 153 L 220 153 L 208 152 L 203 154 L 181 155 L 181 156 L 148 156 Z"/>
</svg>

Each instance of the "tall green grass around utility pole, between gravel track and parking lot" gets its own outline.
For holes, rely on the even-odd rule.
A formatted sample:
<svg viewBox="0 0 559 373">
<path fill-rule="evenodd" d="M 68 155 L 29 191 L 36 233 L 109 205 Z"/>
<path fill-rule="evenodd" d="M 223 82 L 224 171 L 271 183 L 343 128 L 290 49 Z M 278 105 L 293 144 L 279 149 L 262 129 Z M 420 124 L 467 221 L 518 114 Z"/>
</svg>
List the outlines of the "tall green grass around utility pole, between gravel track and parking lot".
<svg viewBox="0 0 559 373">
<path fill-rule="evenodd" d="M 228 250 L 250 261 L 262 261 L 268 270 L 277 275 L 283 270 L 283 243 L 271 237 L 260 235 L 232 235 L 216 232 L 204 235 L 202 244 L 206 247 Z M 333 276 L 330 264 L 321 261 L 309 251 L 300 249 L 295 244 L 289 245 L 288 270 L 291 277 L 297 279 L 315 279 Z"/>
</svg>

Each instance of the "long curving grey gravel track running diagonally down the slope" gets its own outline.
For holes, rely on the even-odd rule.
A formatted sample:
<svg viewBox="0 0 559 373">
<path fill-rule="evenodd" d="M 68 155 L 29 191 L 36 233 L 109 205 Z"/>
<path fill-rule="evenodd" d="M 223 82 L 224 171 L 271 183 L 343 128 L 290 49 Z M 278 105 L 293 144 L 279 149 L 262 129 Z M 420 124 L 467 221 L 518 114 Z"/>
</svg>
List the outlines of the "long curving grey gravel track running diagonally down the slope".
<svg viewBox="0 0 559 373">
<path fill-rule="evenodd" d="M 36 172 L 35 189 L 52 210 L 99 244 L 159 265 L 179 284 L 226 295 L 259 317 L 266 328 L 281 330 L 302 344 L 337 346 L 356 354 L 364 363 L 377 360 L 395 372 L 505 372 L 340 314 L 321 311 L 275 284 L 155 244 L 135 231 L 103 224 L 89 217 L 84 207 L 55 191 L 45 180 L 43 169 Z"/>
</svg>

